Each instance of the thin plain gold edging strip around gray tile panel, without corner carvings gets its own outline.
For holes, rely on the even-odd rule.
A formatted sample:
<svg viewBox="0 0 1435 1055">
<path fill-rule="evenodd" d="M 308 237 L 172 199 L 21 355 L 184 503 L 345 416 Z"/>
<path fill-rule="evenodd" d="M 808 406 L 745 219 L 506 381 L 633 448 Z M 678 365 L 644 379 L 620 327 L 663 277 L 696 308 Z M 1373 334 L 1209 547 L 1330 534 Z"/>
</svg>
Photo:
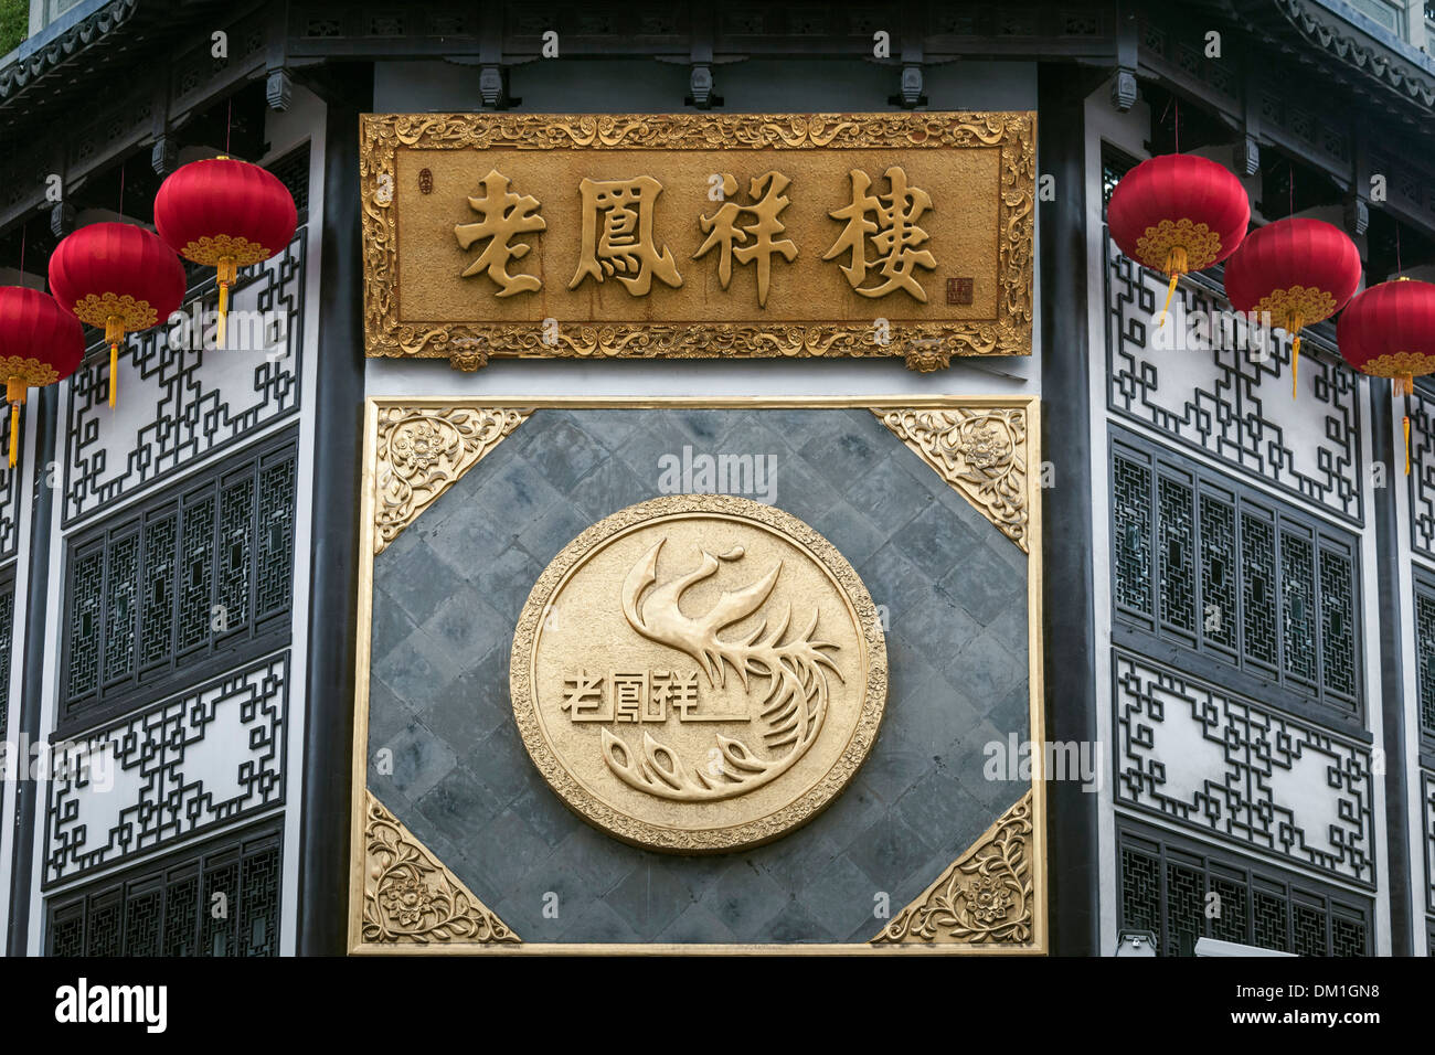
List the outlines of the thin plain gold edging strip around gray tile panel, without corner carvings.
<svg viewBox="0 0 1435 1055">
<path fill-rule="evenodd" d="M 877 413 L 888 411 L 989 411 L 1020 408 L 1026 415 L 1027 425 L 1027 456 L 1030 464 L 1040 459 L 1040 402 L 1032 396 L 812 396 L 801 399 L 771 399 L 771 398 L 639 398 L 639 399 L 563 399 L 563 398 L 524 398 L 494 400 L 464 399 L 458 396 L 442 398 L 393 398 L 366 400 L 364 413 L 364 481 L 363 508 L 360 522 L 373 524 L 377 502 L 377 435 L 379 415 L 392 408 L 409 408 L 412 411 L 502 411 L 519 408 L 525 412 L 535 409 L 653 409 L 653 408 L 712 408 L 712 409 L 742 409 L 742 408 L 773 408 L 773 409 L 868 409 Z M 1043 744 L 1046 736 L 1045 721 L 1045 670 L 1042 647 L 1042 517 L 1040 492 L 1036 479 L 1026 477 L 1026 507 L 1029 510 L 1026 538 L 1027 551 L 1027 686 L 1029 686 L 1029 721 L 1030 739 L 1033 744 Z M 748 943 L 748 944 L 677 944 L 677 943 L 564 943 L 564 942 L 443 942 L 419 944 L 416 942 L 373 942 L 364 936 L 364 904 L 366 877 L 369 876 L 369 860 L 364 853 L 367 804 L 370 792 L 369 779 L 369 666 L 372 659 L 372 629 L 373 629 L 373 547 L 375 533 L 363 531 L 360 535 L 359 560 L 359 634 L 354 657 L 354 741 L 352 768 L 352 810 L 350 810 L 350 866 L 349 866 L 349 950 L 353 955 L 430 955 L 430 953 L 466 953 L 466 955 L 551 955 L 551 953 L 591 953 L 591 955 L 626 955 L 626 956 L 730 956 L 735 953 L 751 955 L 785 955 L 785 956 L 831 956 L 831 955 L 1045 955 L 1048 946 L 1048 913 L 1046 913 L 1046 784 L 1042 771 L 1043 754 L 1032 752 L 1032 787 L 1030 797 L 1030 930 L 1026 942 L 993 942 L 993 940 L 933 940 L 933 942 L 861 942 L 852 944 L 841 943 Z M 999 821 L 1000 824 L 1000 821 Z M 946 873 L 944 873 L 946 874 Z M 938 880 L 940 883 L 940 880 Z M 475 899 L 476 900 L 476 899 Z"/>
</svg>

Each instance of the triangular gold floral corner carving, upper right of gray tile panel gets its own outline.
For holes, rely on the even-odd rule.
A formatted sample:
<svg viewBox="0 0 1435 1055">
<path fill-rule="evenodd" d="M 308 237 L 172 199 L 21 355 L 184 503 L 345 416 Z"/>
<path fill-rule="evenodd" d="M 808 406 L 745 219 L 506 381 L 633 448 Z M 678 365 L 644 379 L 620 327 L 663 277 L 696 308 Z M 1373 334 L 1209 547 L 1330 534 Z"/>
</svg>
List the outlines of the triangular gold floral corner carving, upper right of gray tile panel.
<svg viewBox="0 0 1435 1055">
<path fill-rule="evenodd" d="M 1029 553 L 1023 408 L 874 409 L 872 413 L 997 531 Z"/>
</svg>

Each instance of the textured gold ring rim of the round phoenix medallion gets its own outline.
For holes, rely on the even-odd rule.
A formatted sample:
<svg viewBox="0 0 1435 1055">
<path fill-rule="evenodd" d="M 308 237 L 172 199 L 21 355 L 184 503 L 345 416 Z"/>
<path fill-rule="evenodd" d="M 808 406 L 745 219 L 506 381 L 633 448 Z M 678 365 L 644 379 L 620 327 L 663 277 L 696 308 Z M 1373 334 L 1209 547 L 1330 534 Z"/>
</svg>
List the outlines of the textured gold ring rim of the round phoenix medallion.
<svg viewBox="0 0 1435 1055">
<path fill-rule="evenodd" d="M 538 639 L 538 629 L 548 611 L 554 590 L 568 571 L 606 538 L 611 538 L 634 524 L 641 524 L 653 517 L 674 512 L 729 514 L 755 520 L 771 528 L 776 528 L 806 548 L 842 589 L 847 603 L 857 617 L 857 624 L 861 627 L 862 643 L 867 647 L 867 692 L 862 698 L 862 709 L 857 716 L 857 725 L 847 742 L 847 748 L 832 764 L 832 768 L 806 794 L 781 810 L 758 821 L 735 824 L 726 828 L 709 828 L 703 831 L 662 828 L 629 814 L 618 812 L 603 802 L 574 779 L 573 774 L 558 761 L 547 738 L 542 735 L 531 695 L 530 666 L 534 643 Z M 847 563 L 847 558 L 835 545 L 809 524 L 772 505 L 762 505 L 761 502 L 732 495 L 667 495 L 653 498 L 600 520 L 568 543 L 554 557 L 552 563 L 544 568 L 544 573 L 528 594 L 528 601 L 518 617 L 518 629 L 514 632 L 514 650 L 508 672 L 509 690 L 514 700 L 514 721 L 518 723 L 518 732 L 522 733 L 528 755 L 532 758 L 534 765 L 538 766 L 544 779 L 548 781 L 548 787 L 557 791 L 563 797 L 563 801 L 578 812 L 578 815 L 597 824 L 624 843 L 649 850 L 667 850 L 684 854 L 761 845 L 762 843 L 781 838 L 794 828 L 799 828 L 811 821 L 832 800 L 842 794 L 842 788 L 847 787 L 848 781 L 852 779 L 857 769 L 862 765 L 862 761 L 865 761 L 867 754 L 872 749 L 872 744 L 877 739 L 877 728 L 881 725 L 883 711 L 887 706 L 887 643 L 883 639 L 877 604 L 872 601 L 857 570 Z"/>
</svg>

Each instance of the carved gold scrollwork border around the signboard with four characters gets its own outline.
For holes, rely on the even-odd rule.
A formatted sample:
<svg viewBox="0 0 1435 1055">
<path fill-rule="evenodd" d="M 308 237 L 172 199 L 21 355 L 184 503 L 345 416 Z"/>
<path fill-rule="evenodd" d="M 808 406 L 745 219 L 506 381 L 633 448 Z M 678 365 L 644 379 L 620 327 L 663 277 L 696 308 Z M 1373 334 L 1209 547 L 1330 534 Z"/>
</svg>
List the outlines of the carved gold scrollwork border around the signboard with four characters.
<svg viewBox="0 0 1435 1055">
<path fill-rule="evenodd" d="M 474 370 L 494 356 L 575 359 L 781 359 L 898 356 L 914 370 L 953 356 L 1032 353 L 1036 115 L 1030 111 L 947 113 L 363 113 L 366 355 L 449 359 Z M 641 323 L 560 327 L 557 344 L 537 323 L 426 323 L 399 319 L 399 247 L 393 210 L 395 154 L 422 149 L 772 149 L 900 146 L 1000 148 L 999 296 L 994 322 L 891 323 L 888 340 L 862 323 Z M 551 340 L 551 337 L 550 337 Z"/>
</svg>

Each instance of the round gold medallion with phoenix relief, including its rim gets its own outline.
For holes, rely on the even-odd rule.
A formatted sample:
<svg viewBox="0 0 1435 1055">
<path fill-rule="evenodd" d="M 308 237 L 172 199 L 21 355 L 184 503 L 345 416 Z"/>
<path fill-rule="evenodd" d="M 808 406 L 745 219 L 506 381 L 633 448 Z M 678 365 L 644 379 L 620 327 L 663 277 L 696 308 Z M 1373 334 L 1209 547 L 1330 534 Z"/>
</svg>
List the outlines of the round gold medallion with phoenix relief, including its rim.
<svg viewBox="0 0 1435 1055">
<path fill-rule="evenodd" d="M 629 843 L 766 843 L 862 764 L 887 647 L 852 566 L 771 505 L 654 498 L 540 576 L 514 634 L 514 718 L 554 791 Z"/>
</svg>

